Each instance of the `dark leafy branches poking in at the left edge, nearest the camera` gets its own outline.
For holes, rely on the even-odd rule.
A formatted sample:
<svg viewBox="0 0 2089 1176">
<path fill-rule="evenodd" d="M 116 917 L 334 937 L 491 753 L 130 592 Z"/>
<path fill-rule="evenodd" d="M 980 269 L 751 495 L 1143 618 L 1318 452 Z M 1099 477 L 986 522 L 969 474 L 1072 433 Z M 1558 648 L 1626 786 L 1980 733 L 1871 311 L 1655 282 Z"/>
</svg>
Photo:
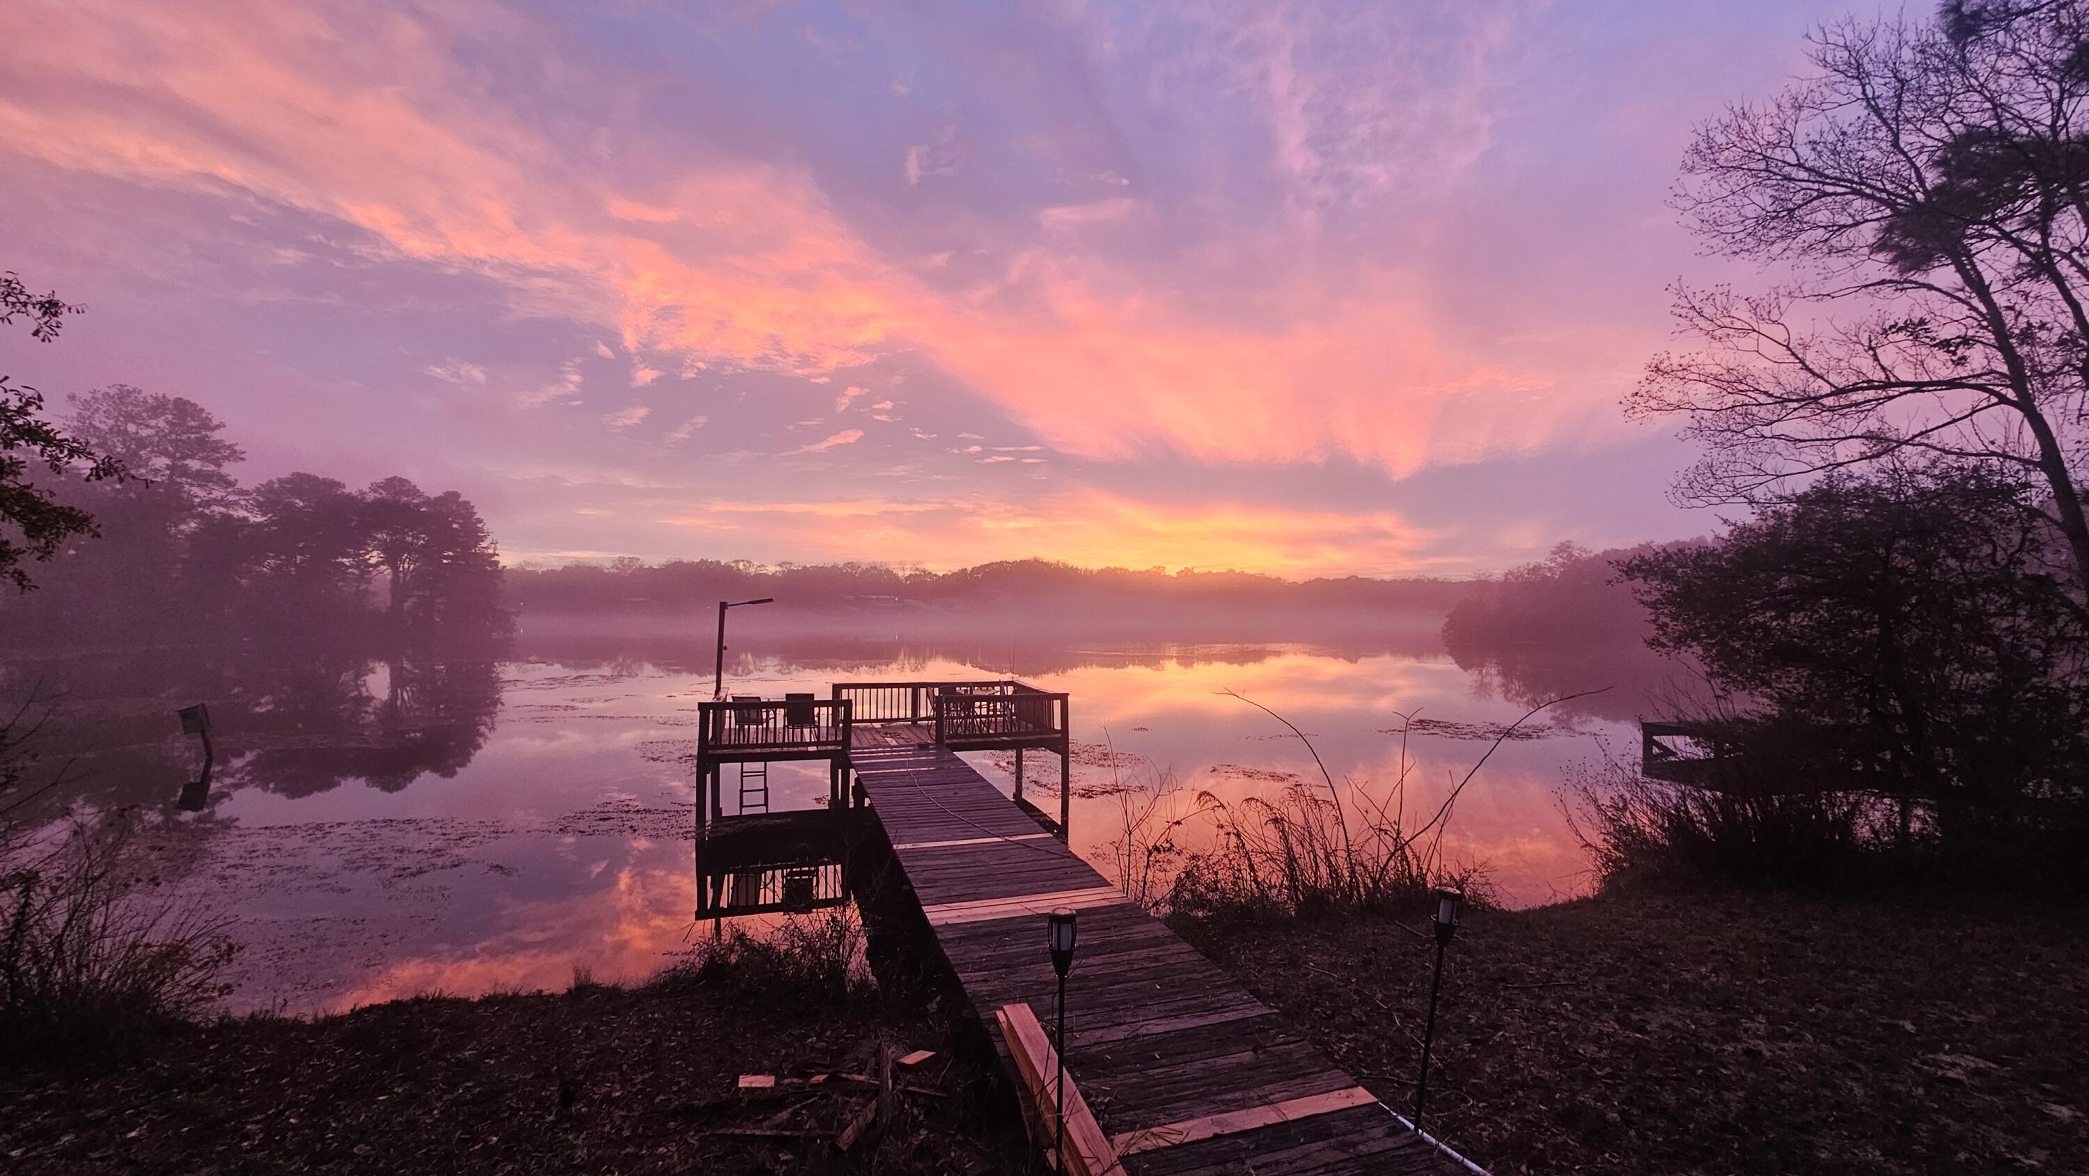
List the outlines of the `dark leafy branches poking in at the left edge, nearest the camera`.
<svg viewBox="0 0 2089 1176">
<path fill-rule="evenodd" d="M 13 272 L 0 274 L 0 326 L 27 315 L 29 338 L 50 343 L 65 315 L 79 313 L 58 295 L 31 295 Z M 75 466 L 88 480 L 119 478 L 123 466 L 44 420 L 44 395 L 0 374 L 0 577 L 29 591 L 23 560 L 50 560 L 67 539 L 94 535 L 94 516 L 29 480 L 36 466 L 63 476 Z"/>
</svg>

